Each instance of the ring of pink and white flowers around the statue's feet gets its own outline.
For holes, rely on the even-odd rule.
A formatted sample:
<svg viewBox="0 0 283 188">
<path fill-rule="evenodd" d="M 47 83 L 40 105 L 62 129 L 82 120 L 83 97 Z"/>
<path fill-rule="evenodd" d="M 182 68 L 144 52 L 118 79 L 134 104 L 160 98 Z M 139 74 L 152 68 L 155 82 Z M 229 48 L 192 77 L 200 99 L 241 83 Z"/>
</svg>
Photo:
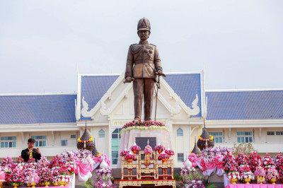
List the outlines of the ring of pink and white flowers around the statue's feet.
<svg viewBox="0 0 283 188">
<path fill-rule="evenodd" d="M 162 122 L 155 122 L 155 121 L 132 121 L 127 122 L 123 125 L 122 131 L 129 131 L 132 129 L 139 129 L 139 130 L 153 130 L 153 129 L 163 129 L 168 131 L 168 129 L 165 127 L 165 124 Z"/>
</svg>

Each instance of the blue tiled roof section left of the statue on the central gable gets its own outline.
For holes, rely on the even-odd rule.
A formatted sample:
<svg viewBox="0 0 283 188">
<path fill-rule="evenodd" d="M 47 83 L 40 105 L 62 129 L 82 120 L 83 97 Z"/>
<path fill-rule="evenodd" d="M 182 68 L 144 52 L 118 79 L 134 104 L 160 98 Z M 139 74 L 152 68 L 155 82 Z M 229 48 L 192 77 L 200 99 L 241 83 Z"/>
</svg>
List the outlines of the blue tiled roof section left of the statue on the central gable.
<svg viewBox="0 0 283 188">
<path fill-rule="evenodd" d="M 81 76 L 81 100 L 84 97 L 84 100 L 88 103 L 88 110 L 96 106 L 118 77 L 119 75 Z M 81 119 L 90 118 L 81 116 Z"/>
</svg>

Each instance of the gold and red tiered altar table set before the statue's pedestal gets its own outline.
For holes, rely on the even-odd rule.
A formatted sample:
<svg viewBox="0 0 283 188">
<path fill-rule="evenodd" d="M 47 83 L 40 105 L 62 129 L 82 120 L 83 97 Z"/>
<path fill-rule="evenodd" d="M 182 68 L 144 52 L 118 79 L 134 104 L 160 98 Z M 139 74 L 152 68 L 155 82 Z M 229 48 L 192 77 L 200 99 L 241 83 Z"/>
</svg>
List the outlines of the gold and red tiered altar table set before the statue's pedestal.
<svg viewBox="0 0 283 188">
<path fill-rule="evenodd" d="M 139 154 L 136 155 L 137 160 L 132 163 L 122 160 L 122 178 L 119 186 L 141 187 L 142 184 L 154 184 L 155 186 L 171 185 L 176 187 L 173 179 L 173 160 L 168 159 L 166 163 L 162 163 L 161 160 L 157 160 L 160 155 L 158 152 L 154 151 L 151 159 L 147 154 L 144 151 L 139 151 Z M 161 169 L 162 174 L 158 173 L 158 169 Z M 168 169 L 169 174 L 167 174 Z"/>
</svg>

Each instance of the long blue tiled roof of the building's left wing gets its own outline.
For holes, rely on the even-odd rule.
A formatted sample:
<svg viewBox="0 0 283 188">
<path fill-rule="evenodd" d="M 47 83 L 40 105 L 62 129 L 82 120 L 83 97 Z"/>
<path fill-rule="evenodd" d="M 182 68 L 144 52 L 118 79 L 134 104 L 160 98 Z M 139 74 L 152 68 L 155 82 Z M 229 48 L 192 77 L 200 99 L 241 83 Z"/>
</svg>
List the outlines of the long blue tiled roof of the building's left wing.
<svg viewBox="0 0 283 188">
<path fill-rule="evenodd" d="M 76 122 L 74 95 L 1 95 L 0 124 Z"/>
</svg>

